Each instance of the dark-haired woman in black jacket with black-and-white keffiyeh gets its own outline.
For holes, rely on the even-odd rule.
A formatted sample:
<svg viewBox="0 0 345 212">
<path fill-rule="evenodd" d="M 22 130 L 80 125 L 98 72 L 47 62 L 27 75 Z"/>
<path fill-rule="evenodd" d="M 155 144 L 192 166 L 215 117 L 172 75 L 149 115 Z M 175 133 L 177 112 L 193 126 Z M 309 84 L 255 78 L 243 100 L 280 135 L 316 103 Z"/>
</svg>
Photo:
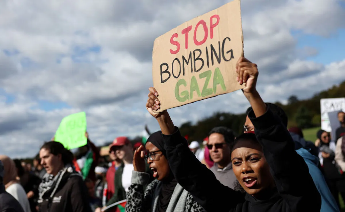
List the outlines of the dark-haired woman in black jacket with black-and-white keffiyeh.
<svg viewBox="0 0 345 212">
<path fill-rule="evenodd" d="M 39 185 L 40 212 L 91 212 L 88 191 L 73 164 L 73 154 L 57 141 L 40 148 L 41 164 L 47 173 Z"/>
</svg>

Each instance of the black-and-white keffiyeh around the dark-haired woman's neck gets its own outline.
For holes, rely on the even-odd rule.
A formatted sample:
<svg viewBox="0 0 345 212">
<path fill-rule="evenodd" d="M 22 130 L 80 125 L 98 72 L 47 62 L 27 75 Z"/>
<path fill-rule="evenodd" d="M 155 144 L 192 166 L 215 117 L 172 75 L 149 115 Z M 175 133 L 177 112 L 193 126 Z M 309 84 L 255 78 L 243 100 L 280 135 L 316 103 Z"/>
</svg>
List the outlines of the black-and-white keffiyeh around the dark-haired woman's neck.
<svg viewBox="0 0 345 212">
<path fill-rule="evenodd" d="M 71 164 L 65 165 L 55 176 L 46 173 L 38 187 L 38 203 L 41 203 L 45 199 L 51 199 L 59 188 L 59 185 L 65 184 L 71 176 L 75 175 L 81 176 Z"/>
</svg>

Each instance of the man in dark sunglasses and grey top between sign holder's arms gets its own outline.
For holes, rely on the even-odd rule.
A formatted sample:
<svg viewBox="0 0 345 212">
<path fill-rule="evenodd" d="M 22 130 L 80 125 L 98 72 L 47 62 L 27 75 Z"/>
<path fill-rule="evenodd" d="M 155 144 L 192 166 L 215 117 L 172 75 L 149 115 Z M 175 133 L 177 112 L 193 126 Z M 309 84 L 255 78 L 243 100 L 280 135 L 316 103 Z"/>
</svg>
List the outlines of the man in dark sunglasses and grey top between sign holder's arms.
<svg viewBox="0 0 345 212">
<path fill-rule="evenodd" d="M 207 148 L 214 165 L 210 170 L 223 185 L 234 189 L 236 177 L 231 163 L 231 147 L 235 136 L 226 127 L 215 127 L 209 132 Z"/>
</svg>

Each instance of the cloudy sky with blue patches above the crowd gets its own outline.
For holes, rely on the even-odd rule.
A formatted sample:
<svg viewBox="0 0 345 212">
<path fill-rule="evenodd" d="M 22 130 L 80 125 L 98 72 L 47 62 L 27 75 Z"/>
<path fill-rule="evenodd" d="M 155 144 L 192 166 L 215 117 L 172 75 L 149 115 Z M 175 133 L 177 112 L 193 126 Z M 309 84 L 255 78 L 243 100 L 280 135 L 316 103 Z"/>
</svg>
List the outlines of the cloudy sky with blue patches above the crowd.
<svg viewBox="0 0 345 212">
<path fill-rule="evenodd" d="M 86 111 L 100 145 L 148 124 L 156 37 L 226 0 L 0 1 L 0 154 L 32 157 L 61 119 Z M 344 0 L 242 0 L 244 51 L 265 101 L 345 79 Z M 242 92 L 171 109 L 176 125 L 244 112 Z"/>
</svg>

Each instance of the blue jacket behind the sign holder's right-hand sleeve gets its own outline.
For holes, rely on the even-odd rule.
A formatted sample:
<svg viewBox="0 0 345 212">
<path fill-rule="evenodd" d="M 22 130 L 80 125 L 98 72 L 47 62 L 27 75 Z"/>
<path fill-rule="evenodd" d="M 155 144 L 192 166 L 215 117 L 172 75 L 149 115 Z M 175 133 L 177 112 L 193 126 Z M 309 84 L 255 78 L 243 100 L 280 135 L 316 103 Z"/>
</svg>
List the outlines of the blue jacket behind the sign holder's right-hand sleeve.
<svg viewBox="0 0 345 212">
<path fill-rule="evenodd" d="M 302 156 L 306 164 L 308 165 L 309 173 L 313 178 L 317 190 L 321 195 L 321 210 L 320 212 L 339 212 L 338 205 L 333 198 L 331 191 L 329 191 L 326 180 L 317 167 L 319 163 L 318 157 L 311 154 L 307 149 L 300 148 L 296 152 Z"/>
</svg>

